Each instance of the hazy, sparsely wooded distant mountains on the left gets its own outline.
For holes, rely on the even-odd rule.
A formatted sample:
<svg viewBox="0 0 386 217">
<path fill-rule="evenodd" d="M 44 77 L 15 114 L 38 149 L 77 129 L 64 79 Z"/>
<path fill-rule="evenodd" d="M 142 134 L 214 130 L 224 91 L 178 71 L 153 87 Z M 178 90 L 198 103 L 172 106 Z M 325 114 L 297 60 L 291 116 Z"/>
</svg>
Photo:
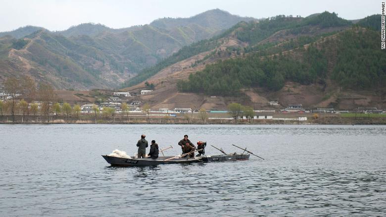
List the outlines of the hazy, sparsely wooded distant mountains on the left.
<svg viewBox="0 0 386 217">
<path fill-rule="evenodd" d="M 0 33 L 0 81 L 30 74 L 59 89 L 116 88 L 183 46 L 251 19 L 215 9 L 123 29 L 87 23 L 50 32 L 27 26 Z"/>
</svg>

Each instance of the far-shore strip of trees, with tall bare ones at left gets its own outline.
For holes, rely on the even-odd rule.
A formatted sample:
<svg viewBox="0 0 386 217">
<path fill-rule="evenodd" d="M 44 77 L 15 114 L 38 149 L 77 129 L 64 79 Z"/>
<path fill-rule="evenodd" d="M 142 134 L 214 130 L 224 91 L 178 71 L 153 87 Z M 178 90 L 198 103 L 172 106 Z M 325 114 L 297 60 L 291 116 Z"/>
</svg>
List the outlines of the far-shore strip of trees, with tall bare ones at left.
<svg viewBox="0 0 386 217">
<path fill-rule="evenodd" d="M 93 104 L 89 113 L 84 113 L 78 104 L 58 103 L 52 86 L 40 83 L 37 87 L 29 76 L 8 78 L 3 89 L 8 99 L 0 100 L 0 123 L 386 124 L 385 114 L 259 113 L 238 103 L 229 104 L 223 113 L 202 108 L 188 113 L 162 113 L 151 111 L 148 104 L 133 113 L 126 103 L 118 109 Z"/>
</svg>

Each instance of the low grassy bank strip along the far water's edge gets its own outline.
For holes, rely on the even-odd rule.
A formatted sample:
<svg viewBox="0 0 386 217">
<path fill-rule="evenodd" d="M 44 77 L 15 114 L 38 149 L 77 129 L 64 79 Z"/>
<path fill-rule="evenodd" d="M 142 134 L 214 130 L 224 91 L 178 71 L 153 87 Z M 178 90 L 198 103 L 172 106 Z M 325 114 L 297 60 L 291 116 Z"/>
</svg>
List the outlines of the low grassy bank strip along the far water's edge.
<svg viewBox="0 0 386 217">
<path fill-rule="evenodd" d="M 276 116 L 276 115 L 275 115 Z M 215 117 L 211 116 L 201 118 L 198 115 L 179 114 L 176 117 L 168 115 L 147 116 L 141 115 L 115 115 L 97 116 L 91 114 L 80 115 L 15 115 L 15 121 L 12 121 L 12 115 L 0 116 L 0 124 L 386 124 L 386 115 L 374 114 L 303 114 L 307 117 L 305 121 L 294 120 L 299 115 L 280 115 L 283 119 L 235 119 L 229 116 Z M 288 119 L 284 119 L 288 118 Z"/>
</svg>

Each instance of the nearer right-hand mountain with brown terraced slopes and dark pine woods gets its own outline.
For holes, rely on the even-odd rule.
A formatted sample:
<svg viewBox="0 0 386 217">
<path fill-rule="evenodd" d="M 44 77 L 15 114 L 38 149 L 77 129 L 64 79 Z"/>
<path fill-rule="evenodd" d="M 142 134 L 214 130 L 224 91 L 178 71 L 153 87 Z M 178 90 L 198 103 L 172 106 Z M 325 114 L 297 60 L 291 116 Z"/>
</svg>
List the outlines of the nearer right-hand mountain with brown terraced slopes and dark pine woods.
<svg viewBox="0 0 386 217">
<path fill-rule="evenodd" d="M 374 28 L 378 19 L 353 24 L 326 11 L 240 22 L 143 70 L 124 90 L 152 84 L 144 99 L 153 108 L 195 102 L 208 109 L 224 109 L 227 102 L 267 107 L 269 99 L 307 107 L 382 107 L 386 54 Z"/>
</svg>

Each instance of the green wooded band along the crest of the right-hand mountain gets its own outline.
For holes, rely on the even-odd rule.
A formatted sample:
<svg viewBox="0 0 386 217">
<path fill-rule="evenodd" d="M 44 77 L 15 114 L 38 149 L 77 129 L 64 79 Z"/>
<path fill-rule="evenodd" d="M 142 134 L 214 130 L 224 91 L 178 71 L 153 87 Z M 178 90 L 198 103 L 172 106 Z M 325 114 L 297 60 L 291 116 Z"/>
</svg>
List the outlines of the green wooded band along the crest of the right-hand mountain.
<svg viewBox="0 0 386 217">
<path fill-rule="evenodd" d="M 315 16 L 302 17 L 286 17 L 278 15 L 260 20 L 259 22 L 240 22 L 232 28 L 228 29 L 221 35 L 215 36 L 209 40 L 202 40 L 190 46 L 182 48 L 178 53 L 169 56 L 164 61 L 157 63 L 151 68 L 146 68 L 139 74 L 126 82 L 125 86 L 138 84 L 150 76 L 156 74 L 162 68 L 174 64 L 182 59 L 186 59 L 193 55 L 210 51 L 217 48 L 226 38 L 235 38 L 246 46 L 242 48 L 243 53 L 249 53 L 256 50 L 261 50 L 261 46 L 257 44 L 263 40 L 281 41 L 286 38 L 294 38 L 296 36 L 317 36 L 325 32 L 335 32 L 351 26 L 350 21 L 339 18 L 335 13 L 323 12 Z M 281 34 L 285 35 L 281 35 Z M 276 38 L 276 39 L 275 39 Z M 300 38 L 300 40 L 307 40 Z M 315 39 L 311 39 L 315 40 Z M 309 39 L 306 42 L 310 42 Z M 263 43 L 269 46 L 268 43 Z M 240 53 L 240 48 L 238 48 Z"/>
</svg>

